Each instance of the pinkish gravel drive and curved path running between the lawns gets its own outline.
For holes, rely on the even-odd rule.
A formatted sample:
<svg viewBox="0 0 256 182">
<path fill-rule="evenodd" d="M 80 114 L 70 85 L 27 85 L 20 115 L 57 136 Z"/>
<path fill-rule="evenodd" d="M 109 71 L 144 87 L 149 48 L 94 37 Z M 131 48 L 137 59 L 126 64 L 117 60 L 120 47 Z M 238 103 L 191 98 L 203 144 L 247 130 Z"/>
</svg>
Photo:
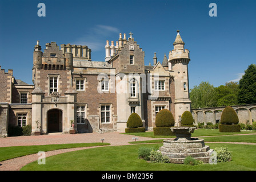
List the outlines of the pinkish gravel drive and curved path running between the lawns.
<svg viewBox="0 0 256 182">
<path fill-rule="evenodd" d="M 20 137 L 7 137 L 0 138 L 0 147 L 9 147 L 9 146 L 31 146 L 31 145 L 44 145 L 44 144 L 65 144 L 65 143 L 93 143 L 93 142 L 102 142 L 101 139 L 104 139 L 105 143 L 110 143 L 111 146 L 122 146 L 132 142 L 133 135 L 122 135 L 118 132 L 114 133 L 87 133 L 87 134 L 50 134 L 50 135 L 40 135 L 40 136 L 20 136 Z M 217 137 L 217 136 L 209 136 Z M 200 138 L 200 137 L 198 137 Z M 153 140 L 155 138 L 149 137 L 138 137 L 139 141 L 143 140 Z M 207 142 L 207 143 L 235 143 L 235 144 L 256 144 L 256 143 L 242 143 L 242 142 Z M 98 146 L 104 147 L 104 146 Z M 93 147 L 79 147 L 79 148 L 68 148 L 61 150 L 54 150 L 45 152 L 46 157 L 61 154 L 64 152 L 83 150 Z M 20 158 L 14 158 L 10 160 L 5 160 L 0 162 L 0 171 L 18 171 L 26 164 L 29 164 L 35 160 L 38 160 L 37 154 L 31 154 L 22 156 Z"/>
</svg>

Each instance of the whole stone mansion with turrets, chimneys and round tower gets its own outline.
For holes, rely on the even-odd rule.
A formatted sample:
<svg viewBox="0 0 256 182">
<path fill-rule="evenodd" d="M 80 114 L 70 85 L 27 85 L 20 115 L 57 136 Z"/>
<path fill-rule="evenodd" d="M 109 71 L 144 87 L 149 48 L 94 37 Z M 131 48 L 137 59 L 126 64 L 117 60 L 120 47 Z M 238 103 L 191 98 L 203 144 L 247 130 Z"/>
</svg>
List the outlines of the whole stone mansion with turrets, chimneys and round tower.
<svg viewBox="0 0 256 182">
<path fill-rule="evenodd" d="M 107 40 L 105 61 L 91 60 L 87 46 L 47 43 L 34 47 L 33 85 L 17 80 L 0 66 L 0 135 L 9 126 L 32 126 L 32 134 L 125 131 L 131 113 L 146 130 L 155 127 L 159 110 L 178 115 L 190 111 L 189 50 L 177 31 L 173 50 L 163 61 L 145 65 L 145 52 L 132 34 Z M 32 60 L 31 60 L 32 63 Z"/>
</svg>

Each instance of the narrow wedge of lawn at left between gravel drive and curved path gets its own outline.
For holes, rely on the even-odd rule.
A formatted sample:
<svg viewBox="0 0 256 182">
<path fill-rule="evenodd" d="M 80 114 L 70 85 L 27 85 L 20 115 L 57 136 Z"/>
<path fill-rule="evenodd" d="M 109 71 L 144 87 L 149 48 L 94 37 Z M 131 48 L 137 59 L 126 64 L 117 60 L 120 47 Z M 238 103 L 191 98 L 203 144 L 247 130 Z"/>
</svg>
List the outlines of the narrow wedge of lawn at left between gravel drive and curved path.
<svg viewBox="0 0 256 182">
<path fill-rule="evenodd" d="M 17 146 L 0 147 L 0 161 L 18 158 L 25 155 L 36 154 L 39 151 L 51 151 L 64 148 L 92 147 L 110 145 L 109 143 L 70 143 L 70 144 L 49 144 L 41 146 Z"/>
</svg>

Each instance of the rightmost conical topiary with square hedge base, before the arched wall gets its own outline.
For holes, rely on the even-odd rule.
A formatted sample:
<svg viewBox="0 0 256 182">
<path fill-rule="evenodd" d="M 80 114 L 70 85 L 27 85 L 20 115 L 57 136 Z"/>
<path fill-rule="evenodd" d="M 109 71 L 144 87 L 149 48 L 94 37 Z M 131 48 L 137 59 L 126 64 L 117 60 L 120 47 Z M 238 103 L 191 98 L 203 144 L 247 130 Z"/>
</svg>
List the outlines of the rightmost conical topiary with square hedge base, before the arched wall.
<svg viewBox="0 0 256 182">
<path fill-rule="evenodd" d="M 227 106 L 222 111 L 221 114 L 221 122 L 219 124 L 220 132 L 239 132 L 241 130 L 241 126 L 238 125 L 239 119 L 235 110 Z"/>
</svg>

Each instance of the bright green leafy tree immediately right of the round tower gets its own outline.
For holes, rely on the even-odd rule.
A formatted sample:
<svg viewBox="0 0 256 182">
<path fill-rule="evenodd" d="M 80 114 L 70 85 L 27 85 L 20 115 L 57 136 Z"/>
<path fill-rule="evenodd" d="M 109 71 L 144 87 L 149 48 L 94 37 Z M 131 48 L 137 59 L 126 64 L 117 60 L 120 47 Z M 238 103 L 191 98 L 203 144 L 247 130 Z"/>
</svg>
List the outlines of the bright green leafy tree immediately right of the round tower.
<svg viewBox="0 0 256 182">
<path fill-rule="evenodd" d="M 192 109 L 217 106 L 217 92 L 208 81 L 202 81 L 198 86 L 190 89 Z"/>
</svg>

